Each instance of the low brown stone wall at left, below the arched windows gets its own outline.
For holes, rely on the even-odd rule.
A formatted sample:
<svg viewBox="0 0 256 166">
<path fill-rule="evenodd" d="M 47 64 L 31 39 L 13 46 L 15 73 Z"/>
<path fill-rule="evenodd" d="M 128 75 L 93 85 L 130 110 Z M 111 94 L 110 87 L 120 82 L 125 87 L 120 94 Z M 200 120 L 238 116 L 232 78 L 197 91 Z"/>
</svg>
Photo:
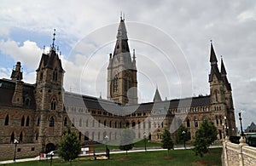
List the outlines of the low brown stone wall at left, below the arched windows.
<svg viewBox="0 0 256 166">
<path fill-rule="evenodd" d="M 13 159 L 15 156 L 15 144 L 0 144 L 0 160 Z M 39 155 L 42 146 L 40 144 L 17 144 L 16 158 L 35 157 Z"/>
</svg>

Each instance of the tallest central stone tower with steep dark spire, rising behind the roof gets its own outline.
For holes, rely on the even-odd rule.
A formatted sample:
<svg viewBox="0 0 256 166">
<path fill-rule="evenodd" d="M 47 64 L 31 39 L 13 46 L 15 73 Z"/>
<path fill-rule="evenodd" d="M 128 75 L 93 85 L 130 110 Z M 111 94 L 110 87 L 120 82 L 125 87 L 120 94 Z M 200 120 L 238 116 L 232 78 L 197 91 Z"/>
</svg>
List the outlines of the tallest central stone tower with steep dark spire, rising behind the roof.
<svg viewBox="0 0 256 166">
<path fill-rule="evenodd" d="M 120 104 L 137 104 L 137 67 L 135 50 L 133 56 L 128 44 L 125 19 L 120 17 L 117 40 L 108 63 L 108 100 Z"/>
</svg>

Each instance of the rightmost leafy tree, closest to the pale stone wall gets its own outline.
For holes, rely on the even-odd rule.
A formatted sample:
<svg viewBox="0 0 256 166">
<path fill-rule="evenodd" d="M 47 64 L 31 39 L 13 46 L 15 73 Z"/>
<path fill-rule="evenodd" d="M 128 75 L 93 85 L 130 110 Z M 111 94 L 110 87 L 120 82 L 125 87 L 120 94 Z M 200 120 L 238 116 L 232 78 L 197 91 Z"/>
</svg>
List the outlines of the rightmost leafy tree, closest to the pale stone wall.
<svg viewBox="0 0 256 166">
<path fill-rule="evenodd" d="M 203 157 L 203 154 L 208 152 L 208 147 L 214 140 L 217 140 L 217 129 L 213 123 L 208 123 L 207 120 L 204 120 L 200 129 L 195 133 L 195 141 L 193 142 L 195 156 L 200 155 Z"/>
</svg>

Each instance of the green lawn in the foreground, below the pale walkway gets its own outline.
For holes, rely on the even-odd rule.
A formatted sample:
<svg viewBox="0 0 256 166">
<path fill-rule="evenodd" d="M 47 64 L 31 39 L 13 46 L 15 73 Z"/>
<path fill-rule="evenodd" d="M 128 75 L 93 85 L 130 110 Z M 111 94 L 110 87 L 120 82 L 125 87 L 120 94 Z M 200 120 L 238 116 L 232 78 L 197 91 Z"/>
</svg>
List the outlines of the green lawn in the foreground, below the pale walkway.
<svg viewBox="0 0 256 166">
<path fill-rule="evenodd" d="M 73 161 L 73 165 L 221 165 L 221 152 L 222 148 L 210 149 L 204 157 L 195 157 L 192 150 L 171 150 L 171 158 L 165 158 L 167 151 L 158 152 L 128 152 L 128 156 L 125 153 L 110 154 L 110 160 L 96 160 L 91 161 L 92 157 L 80 157 Z M 127 160 L 128 158 L 128 160 Z M 44 166 L 49 165 L 48 161 L 33 161 L 26 163 L 11 163 L 9 165 L 25 166 L 35 165 Z M 54 159 L 53 165 L 69 165 L 68 162 L 63 162 L 61 159 Z"/>
</svg>

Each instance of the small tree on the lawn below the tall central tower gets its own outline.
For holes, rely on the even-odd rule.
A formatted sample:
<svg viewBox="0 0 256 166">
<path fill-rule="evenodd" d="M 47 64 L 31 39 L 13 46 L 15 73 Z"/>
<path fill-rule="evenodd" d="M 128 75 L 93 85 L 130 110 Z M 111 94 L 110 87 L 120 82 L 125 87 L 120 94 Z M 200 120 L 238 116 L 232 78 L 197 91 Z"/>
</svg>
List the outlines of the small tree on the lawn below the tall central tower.
<svg viewBox="0 0 256 166">
<path fill-rule="evenodd" d="M 133 130 L 129 128 L 122 129 L 121 132 L 121 140 L 120 140 L 120 146 L 119 149 L 127 152 L 132 149 L 134 146 L 133 140 L 135 138 L 135 133 Z"/>
</svg>

